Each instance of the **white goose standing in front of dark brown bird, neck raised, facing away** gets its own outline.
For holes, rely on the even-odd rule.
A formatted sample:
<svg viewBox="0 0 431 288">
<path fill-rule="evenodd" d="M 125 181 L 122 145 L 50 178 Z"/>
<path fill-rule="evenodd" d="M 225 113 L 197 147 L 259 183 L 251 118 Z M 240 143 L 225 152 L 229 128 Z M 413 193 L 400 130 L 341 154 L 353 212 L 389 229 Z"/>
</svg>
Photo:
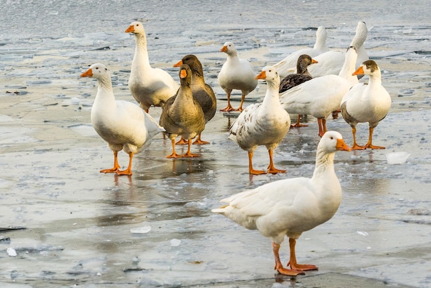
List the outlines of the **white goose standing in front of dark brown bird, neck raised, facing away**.
<svg viewBox="0 0 431 288">
<path fill-rule="evenodd" d="M 339 110 L 343 96 L 350 87 L 358 83 L 357 77 L 352 76 L 357 58 L 355 47 L 347 49 L 345 58 L 339 75 L 313 78 L 280 93 L 280 102 L 288 113 L 308 114 L 317 118 L 320 137 L 326 132 L 328 115 Z"/>
</svg>

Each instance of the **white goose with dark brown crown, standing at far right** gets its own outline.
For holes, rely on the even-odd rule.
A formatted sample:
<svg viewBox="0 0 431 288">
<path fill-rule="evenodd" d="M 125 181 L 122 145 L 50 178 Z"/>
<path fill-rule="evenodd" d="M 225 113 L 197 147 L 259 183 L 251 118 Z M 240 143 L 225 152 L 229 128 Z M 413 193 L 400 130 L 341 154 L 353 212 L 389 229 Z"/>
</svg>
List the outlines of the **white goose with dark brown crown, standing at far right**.
<svg viewBox="0 0 431 288">
<path fill-rule="evenodd" d="M 391 98 L 388 91 L 381 85 L 381 73 L 375 61 L 367 60 L 362 63 L 355 73 L 353 73 L 353 75 L 359 74 L 370 76 L 368 85 L 358 83 L 341 100 L 341 115 L 343 115 L 344 120 L 352 127 L 352 149 L 384 149 L 385 147 L 383 146 L 372 145 L 372 132 L 388 114 Z M 368 142 L 365 146 L 359 146 L 356 142 L 356 125 L 359 122 L 368 122 L 370 126 Z"/>
</svg>

